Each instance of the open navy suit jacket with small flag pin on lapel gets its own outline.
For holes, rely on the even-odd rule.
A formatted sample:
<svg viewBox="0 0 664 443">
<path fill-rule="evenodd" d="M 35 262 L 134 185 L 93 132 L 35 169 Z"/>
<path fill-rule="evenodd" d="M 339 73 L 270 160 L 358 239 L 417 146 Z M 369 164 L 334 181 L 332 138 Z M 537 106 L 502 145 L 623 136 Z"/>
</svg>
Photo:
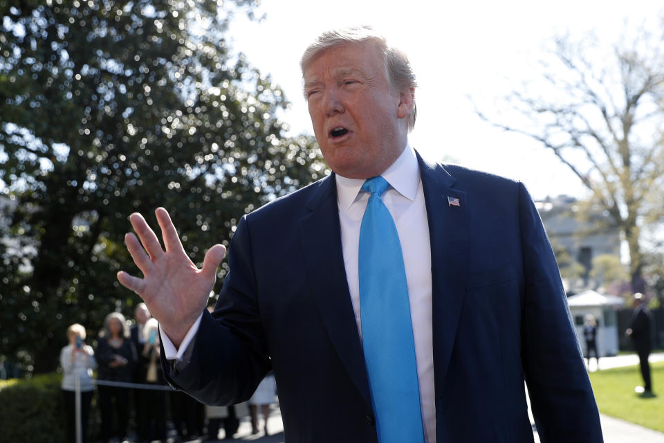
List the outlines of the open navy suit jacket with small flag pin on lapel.
<svg viewBox="0 0 664 443">
<path fill-rule="evenodd" d="M 438 441 L 533 442 L 525 379 L 543 443 L 602 442 L 560 273 L 524 186 L 418 161 Z M 189 362 L 164 362 L 169 382 L 232 404 L 273 369 L 286 442 L 377 442 L 333 175 L 242 217 L 228 263 Z"/>
</svg>

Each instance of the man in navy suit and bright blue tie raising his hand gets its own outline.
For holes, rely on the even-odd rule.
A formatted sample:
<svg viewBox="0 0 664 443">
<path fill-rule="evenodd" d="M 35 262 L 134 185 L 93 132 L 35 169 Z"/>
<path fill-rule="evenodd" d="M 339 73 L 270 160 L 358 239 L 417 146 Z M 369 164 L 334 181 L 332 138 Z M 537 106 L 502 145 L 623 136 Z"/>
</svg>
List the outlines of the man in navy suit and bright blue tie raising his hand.
<svg viewBox="0 0 664 443">
<path fill-rule="evenodd" d="M 370 28 L 302 58 L 333 174 L 242 217 L 196 269 L 163 208 L 139 214 L 118 274 L 160 321 L 165 373 L 208 404 L 272 369 L 287 442 L 601 442 L 555 258 L 524 186 L 409 146 L 416 87 Z M 147 252 L 146 252 L 147 251 Z"/>
</svg>

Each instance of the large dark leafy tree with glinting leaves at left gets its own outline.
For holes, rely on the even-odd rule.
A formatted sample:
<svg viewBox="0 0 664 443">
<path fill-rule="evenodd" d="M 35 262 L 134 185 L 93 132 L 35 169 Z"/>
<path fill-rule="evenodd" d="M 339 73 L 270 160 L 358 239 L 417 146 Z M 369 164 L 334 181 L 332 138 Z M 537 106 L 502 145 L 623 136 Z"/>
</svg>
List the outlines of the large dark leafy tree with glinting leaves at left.
<svg viewBox="0 0 664 443">
<path fill-rule="evenodd" d="M 0 250 L 1 355 L 50 370 L 67 325 L 133 314 L 115 277 L 138 273 L 130 213 L 154 223 L 165 206 L 196 262 L 329 174 L 311 137 L 284 138 L 282 91 L 225 42 L 252 4 L 0 1 L 0 180 L 19 202 L 0 237 L 23 246 Z"/>
</svg>

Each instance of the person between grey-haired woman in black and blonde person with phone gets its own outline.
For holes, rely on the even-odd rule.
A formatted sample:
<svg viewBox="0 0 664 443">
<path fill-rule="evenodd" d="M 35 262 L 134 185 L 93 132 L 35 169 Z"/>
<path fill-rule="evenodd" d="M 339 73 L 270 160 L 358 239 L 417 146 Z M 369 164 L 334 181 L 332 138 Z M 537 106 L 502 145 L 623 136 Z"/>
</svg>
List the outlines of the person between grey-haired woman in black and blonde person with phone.
<svg viewBox="0 0 664 443">
<path fill-rule="evenodd" d="M 138 303 L 133 313 L 136 324 L 129 329 L 131 341 L 136 347 L 138 354 L 138 364 L 134 366 L 132 381 L 133 383 L 145 383 L 145 368 L 147 368 L 145 358 L 142 356 L 143 345 L 145 345 L 145 322 L 151 318 L 150 311 L 145 303 Z M 147 392 L 142 389 L 133 389 L 133 408 L 136 412 L 136 434 L 138 441 L 144 441 L 148 438 L 147 423 L 145 420 L 145 397 Z"/>
</svg>

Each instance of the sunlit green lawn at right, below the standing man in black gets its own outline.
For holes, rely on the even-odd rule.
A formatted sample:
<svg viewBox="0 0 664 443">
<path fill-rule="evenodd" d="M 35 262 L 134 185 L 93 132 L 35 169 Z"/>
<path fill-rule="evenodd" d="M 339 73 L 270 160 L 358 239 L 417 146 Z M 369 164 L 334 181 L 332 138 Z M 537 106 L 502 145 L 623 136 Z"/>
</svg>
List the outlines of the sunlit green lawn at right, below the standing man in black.
<svg viewBox="0 0 664 443">
<path fill-rule="evenodd" d="M 664 362 L 651 363 L 650 368 L 653 398 L 634 392 L 635 386 L 643 386 L 638 366 L 591 372 L 600 413 L 664 432 Z"/>
</svg>

